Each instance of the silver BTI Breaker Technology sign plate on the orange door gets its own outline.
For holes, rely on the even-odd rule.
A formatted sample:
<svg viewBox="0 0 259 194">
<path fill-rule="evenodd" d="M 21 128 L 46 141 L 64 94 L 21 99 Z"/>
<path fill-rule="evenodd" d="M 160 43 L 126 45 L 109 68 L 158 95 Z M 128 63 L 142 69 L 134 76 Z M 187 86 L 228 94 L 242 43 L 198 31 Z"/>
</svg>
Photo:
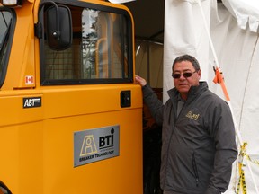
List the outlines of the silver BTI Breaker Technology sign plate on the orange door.
<svg viewBox="0 0 259 194">
<path fill-rule="evenodd" d="M 74 133 L 74 167 L 119 155 L 120 126 Z"/>
</svg>

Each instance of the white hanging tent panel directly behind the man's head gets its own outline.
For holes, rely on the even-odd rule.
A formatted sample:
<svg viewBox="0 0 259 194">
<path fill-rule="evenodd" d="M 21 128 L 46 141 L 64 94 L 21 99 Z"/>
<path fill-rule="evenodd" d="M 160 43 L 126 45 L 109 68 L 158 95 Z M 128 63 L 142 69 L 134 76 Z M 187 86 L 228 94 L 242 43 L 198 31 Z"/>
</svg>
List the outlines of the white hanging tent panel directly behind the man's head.
<svg viewBox="0 0 259 194">
<path fill-rule="evenodd" d="M 202 3 L 206 16 L 210 15 L 210 1 Z M 209 22 L 208 22 L 209 24 Z M 185 53 L 197 57 L 201 64 L 207 64 L 209 58 L 209 40 L 202 28 L 203 22 L 198 5 L 187 1 L 165 1 L 164 33 L 164 94 L 173 87 L 172 64 L 175 57 Z M 209 66 L 202 66 L 202 80 L 207 80 Z"/>
</svg>

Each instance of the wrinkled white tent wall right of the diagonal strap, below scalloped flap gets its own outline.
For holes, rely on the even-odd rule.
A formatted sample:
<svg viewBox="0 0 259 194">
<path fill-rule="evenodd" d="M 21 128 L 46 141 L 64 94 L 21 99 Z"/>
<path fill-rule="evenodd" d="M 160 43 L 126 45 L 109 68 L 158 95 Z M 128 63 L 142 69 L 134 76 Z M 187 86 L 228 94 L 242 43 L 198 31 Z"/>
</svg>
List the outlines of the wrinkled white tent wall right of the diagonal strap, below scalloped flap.
<svg viewBox="0 0 259 194">
<path fill-rule="evenodd" d="M 242 30 L 223 4 L 213 7 L 210 17 L 210 34 L 219 58 L 234 116 L 243 142 L 247 142 L 246 151 L 253 160 L 259 160 L 259 42 L 258 33 L 248 29 Z M 210 63 L 213 57 L 210 55 Z M 211 82 L 213 72 L 209 75 L 210 89 L 224 95 L 219 85 Z M 247 162 L 248 163 L 248 162 Z M 251 163 L 257 188 L 259 188 L 259 166 Z M 255 193 L 251 174 L 245 168 L 246 187 L 248 193 Z M 233 173 L 233 181 L 238 178 L 238 172 Z M 228 192 L 234 193 L 232 188 Z"/>
</svg>

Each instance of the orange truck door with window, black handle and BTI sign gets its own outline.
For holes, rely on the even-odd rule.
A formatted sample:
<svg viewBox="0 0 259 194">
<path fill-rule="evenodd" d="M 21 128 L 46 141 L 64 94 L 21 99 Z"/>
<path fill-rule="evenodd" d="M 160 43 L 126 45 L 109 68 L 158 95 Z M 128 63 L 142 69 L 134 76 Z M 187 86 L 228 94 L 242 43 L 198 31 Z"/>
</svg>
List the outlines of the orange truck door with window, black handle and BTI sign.
<svg viewBox="0 0 259 194">
<path fill-rule="evenodd" d="M 58 9 L 71 13 L 69 47 L 51 46 L 56 8 L 46 4 L 40 13 L 44 190 L 142 193 L 142 101 L 133 83 L 131 16 L 101 2 L 60 3 Z M 62 36 L 68 21 L 59 20 Z"/>
</svg>

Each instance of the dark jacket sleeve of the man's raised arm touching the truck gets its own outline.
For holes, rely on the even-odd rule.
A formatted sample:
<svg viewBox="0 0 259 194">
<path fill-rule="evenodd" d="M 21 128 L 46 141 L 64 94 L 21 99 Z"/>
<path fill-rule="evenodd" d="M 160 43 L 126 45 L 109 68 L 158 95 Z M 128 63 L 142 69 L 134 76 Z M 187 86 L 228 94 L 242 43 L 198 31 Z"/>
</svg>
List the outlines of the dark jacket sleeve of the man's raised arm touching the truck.
<svg viewBox="0 0 259 194">
<path fill-rule="evenodd" d="M 147 104 L 148 109 L 154 119 L 156 119 L 156 123 L 158 125 L 162 125 L 163 123 L 163 102 L 160 101 L 156 95 L 156 93 L 152 90 L 152 88 L 146 84 L 142 87 L 143 91 L 143 100 Z"/>
</svg>

